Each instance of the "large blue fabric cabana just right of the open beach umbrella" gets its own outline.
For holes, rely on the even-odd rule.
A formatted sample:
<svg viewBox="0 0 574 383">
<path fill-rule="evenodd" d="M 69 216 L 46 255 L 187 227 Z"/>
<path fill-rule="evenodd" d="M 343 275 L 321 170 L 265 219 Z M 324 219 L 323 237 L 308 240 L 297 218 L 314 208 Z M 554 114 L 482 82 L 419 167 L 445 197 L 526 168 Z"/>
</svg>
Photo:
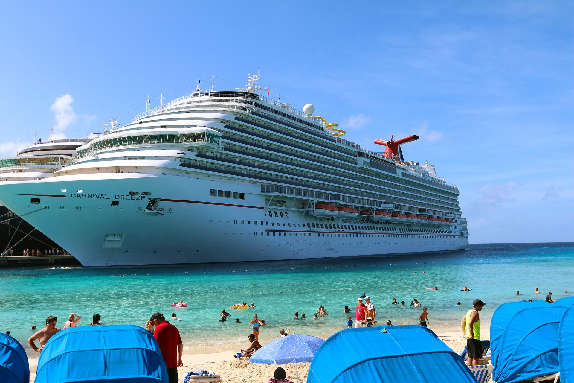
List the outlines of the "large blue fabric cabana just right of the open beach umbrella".
<svg viewBox="0 0 574 383">
<path fill-rule="evenodd" d="M 463 360 L 426 327 L 348 328 L 319 347 L 307 383 L 476 383 Z"/>
</svg>

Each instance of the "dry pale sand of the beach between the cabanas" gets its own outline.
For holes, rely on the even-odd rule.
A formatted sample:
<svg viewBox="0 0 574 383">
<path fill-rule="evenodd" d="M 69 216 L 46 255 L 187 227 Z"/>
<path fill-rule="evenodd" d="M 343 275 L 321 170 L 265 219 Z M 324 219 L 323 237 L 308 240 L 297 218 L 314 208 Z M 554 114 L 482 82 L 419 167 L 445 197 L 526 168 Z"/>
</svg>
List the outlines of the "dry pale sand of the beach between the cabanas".
<svg viewBox="0 0 574 383">
<path fill-rule="evenodd" d="M 431 330 L 439 336 L 439 338 L 446 343 L 453 351 L 460 354 L 464 346 L 466 346 L 466 339 L 463 337 L 459 324 L 452 323 L 449 326 L 441 326 Z M 327 339 L 332 334 L 320 335 L 320 338 Z M 482 320 L 480 335 L 482 339 L 490 338 L 490 320 Z M 261 341 L 265 345 L 271 339 Z M 219 374 L 224 382 L 234 383 L 267 383 L 273 377 L 273 372 L 277 365 L 264 365 L 250 363 L 249 359 L 241 358 L 235 359 L 233 355 L 240 349 L 249 347 L 249 342 L 234 343 L 221 346 L 202 346 L 184 350 L 183 367 L 178 369 L 179 382 L 183 382 L 185 373 L 190 370 L 212 370 Z M 30 383 L 34 381 L 36 376 L 36 360 L 30 360 Z M 307 382 L 307 374 L 311 363 L 298 363 L 299 383 Z M 281 365 L 287 372 L 287 379 L 296 382 L 296 369 L 294 364 Z"/>
</svg>

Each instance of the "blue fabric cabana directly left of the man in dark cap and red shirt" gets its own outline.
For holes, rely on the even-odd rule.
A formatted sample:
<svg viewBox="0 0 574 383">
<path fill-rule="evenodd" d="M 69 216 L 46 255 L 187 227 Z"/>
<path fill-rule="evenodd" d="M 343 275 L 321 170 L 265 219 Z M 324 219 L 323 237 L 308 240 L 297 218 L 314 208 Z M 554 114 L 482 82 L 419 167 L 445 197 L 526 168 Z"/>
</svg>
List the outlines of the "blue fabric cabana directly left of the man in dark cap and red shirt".
<svg viewBox="0 0 574 383">
<path fill-rule="evenodd" d="M 40 353 L 35 383 L 169 383 L 160 346 L 145 328 L 66 328 Z"/>
</svg>

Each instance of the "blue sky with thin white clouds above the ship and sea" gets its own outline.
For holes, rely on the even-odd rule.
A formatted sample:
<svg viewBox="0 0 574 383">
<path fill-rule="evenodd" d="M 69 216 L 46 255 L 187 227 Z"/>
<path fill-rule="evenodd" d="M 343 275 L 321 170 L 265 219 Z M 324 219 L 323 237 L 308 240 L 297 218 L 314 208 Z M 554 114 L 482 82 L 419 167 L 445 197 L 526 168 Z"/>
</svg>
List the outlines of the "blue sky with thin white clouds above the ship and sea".
<svg viewBox="0 0 574 383">
<path fill-rule="evenodd" d="M 7 2 L 0 156 L 261 68 L 348 140 L 416 133 L 471 242 L 574 241 L 574 3 Z M 222 80 L 225 79 L 225 80 Z M 234 83 L 235 82 L 235 83 Z"/>
</svg>

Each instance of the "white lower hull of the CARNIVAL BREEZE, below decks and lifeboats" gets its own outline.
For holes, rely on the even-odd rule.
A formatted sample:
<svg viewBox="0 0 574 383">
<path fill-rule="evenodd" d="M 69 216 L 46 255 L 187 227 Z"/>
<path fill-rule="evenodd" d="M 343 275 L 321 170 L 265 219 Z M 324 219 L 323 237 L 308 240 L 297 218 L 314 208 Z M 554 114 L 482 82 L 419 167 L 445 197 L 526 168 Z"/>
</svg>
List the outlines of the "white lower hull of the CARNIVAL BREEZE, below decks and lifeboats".
<svg viewBox="0 0 574 383">
<path fill-rule="evenodd" d="M 245 199 L 211 196 L 211 189 L 229 190 L 234 192 L 232 195 L 242 193 Z M 141 192 L 150 195 L 144 197 Z M 161 199 L 154 211 L 146 211 L 149 198 Z M 38 203 L 31 203 L 32 199 Z M 118 205 L 112 206 L 113 201 Z M 218 176 L 199 179 L 105 173 L 8 181 L 0 185 L 0 202 L 84 266 L 350 257 L 468 246 L 468 238 L 460 231 L 398 231 L 408 227 L 406 223 L 327 229 L 324 223 L 343 223 L 343 219 L 317 218 L 309 211 L 289 207 L 268 207 L 259 185 Z M 269 210 L 285 214 L 276 218 L 269 216 Z M 317 226 L 307 227 L 307 223 Z M 382 230 L 385 225 L 397 231 Z"/>
</svg>

